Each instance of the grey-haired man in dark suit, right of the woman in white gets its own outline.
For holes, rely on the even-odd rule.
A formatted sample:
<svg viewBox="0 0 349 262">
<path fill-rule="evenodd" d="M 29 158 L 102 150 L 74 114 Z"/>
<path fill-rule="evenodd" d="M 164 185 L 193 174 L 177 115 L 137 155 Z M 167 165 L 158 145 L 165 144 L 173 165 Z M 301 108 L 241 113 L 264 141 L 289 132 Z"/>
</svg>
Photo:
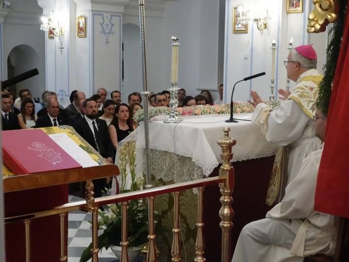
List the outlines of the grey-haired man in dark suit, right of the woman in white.
<svg viewBox="0 0 349 262">
<path fill-rule="evenodd" d="M 47 114 L 40 116 L 36 120 L 36 128 L 57 127 L 69 125 L 70 121 L 63 115 L 59 115 L 59 102 L 56 99 L 50 99 L 46 102 Z"/>
</svg>

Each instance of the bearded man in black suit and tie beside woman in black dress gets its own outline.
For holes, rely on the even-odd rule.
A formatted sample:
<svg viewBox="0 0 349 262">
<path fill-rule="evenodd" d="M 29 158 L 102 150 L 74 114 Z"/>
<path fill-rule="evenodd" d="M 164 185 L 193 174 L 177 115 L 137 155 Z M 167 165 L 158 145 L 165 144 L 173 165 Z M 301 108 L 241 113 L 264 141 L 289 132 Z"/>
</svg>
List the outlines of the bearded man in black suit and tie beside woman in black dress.
<svg viewBox="0 0 349 262">
<path fill-rule="evenodd" d="M 97 118 L 97 103 L 88 98 L 83 102 L 82 107 L 85 115 L 82 119 L 73 124 L 74 129 L 92 147 L 98 151 L 109 163 L 113 163 L 114 148 L 108 132 L 106 121 Z M 102 189 L 105 179 L 94 180 L 95 197 L 102 196 Z"/>
</svg>

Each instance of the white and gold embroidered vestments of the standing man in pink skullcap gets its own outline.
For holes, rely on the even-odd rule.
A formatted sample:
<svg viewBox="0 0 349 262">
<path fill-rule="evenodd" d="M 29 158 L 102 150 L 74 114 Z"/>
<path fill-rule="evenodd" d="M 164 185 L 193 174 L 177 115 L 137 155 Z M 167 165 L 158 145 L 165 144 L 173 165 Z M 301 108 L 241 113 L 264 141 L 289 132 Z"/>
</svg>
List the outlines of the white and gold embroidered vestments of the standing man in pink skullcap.
<svg viewBox="0 0 349 262">
<path fill-rule="evenodd" d="M 300 170 L 301 162 L 321 146 L 315 137 L 313 115 L 322 75 L 316 69 L 299 77 L 290 96 L 279 108 L 260 103 L 254 110 L 252 125 L 279 147 L 270 178 L 266 202 L 272 205 L 284 196 L 286 185 Z"/>
</svg>

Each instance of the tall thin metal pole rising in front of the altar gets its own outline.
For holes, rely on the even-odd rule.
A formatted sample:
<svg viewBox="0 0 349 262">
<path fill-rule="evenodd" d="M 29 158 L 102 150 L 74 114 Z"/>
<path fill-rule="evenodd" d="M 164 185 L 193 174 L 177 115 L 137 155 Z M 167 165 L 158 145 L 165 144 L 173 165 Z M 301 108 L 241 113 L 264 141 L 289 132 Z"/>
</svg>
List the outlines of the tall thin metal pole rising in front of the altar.
<svg viewBox="0 0 349 262">
<path fill-rule="evenodd" d="M 150 149 L 149 149 L 149 114 L 148 114 L 148 88 L 147 88 L 147 66 L 146 66 L 146 41 L 145 41 L 145 12 L 144 0 L 139 0 L 140 9 L 140 31 L 141 31 L 141 57 L 143 77 L 143 112 L 144 112 L 144 145 L 145 145 L 145 175 L 146 188 L 151 188 L 150 177 Z"/>
</svg>

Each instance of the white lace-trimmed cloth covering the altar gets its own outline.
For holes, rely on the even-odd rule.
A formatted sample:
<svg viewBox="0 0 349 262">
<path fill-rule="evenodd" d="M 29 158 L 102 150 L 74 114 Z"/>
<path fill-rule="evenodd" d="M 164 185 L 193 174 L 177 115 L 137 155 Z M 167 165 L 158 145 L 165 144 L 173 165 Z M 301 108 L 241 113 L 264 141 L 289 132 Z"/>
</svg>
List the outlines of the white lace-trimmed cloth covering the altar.
<svg viewBox="0 0 349 262">
<path fill-rule="evenodd" d="M 251 119 L 251 115 L 234 116 Z M 250 121 L 226 123 L 229 115 L 201 115 L 181 116 L 182 122 L 165 124 L 163 120 L 167 118 L 168 116 L 156 116 L 149 123 L 150 148 L 190 157 L 192 162 L 202 168 L 206 177 L 222 162 L 221 147 L 217 145 L 217 141 L 224 136 L 224 127 L 229 127 L 230 137 L 237 140 L 233 147 L 233 162 L 272 156 L 276 151 L 276 145 L 265 140 Z M 136 131 L 136 147 L 144 148 L 143 122 Z"/>
</svg>

